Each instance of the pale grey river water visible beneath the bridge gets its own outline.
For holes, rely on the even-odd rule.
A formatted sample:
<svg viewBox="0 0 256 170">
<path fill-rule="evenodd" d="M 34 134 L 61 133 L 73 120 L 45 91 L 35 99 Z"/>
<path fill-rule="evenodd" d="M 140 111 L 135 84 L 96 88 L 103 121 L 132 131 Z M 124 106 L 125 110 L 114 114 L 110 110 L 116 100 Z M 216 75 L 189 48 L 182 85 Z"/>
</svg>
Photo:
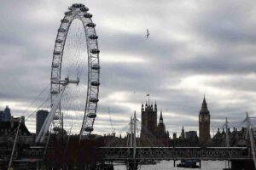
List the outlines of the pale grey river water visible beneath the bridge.
<svg viewBox="0 0 256 170">
<path fill-rule="evenodd" d="M 176 161 L 176 165 L 179 161 Z M 201 170 L 223 170 L 225 161 L 201 161 Z M 156 165 L 143 165 L 138 170 L 189 170 L 190 168 L 173 167 L 173 161 L 160 161 Z M 198 169 L 200 168 L 193 168 Z M 114 170 L 126 170 L 124 165 L 115 165 Z"/>
</svg>

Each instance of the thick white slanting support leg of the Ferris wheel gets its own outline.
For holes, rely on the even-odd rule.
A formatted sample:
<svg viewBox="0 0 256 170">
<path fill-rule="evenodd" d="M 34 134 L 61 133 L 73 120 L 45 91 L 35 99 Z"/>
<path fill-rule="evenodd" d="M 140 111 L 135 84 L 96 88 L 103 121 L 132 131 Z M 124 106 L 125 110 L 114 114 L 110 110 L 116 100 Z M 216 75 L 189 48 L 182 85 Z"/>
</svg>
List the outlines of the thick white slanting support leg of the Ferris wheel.
<svg viewBox="0 0 256 170">
<path fill-rule="evenodd" d="M 49 111 L 49 115 L 47 116 L 47 119 L 45 120 L 44 125 L 41 128 L 40 133 L 38 134 L 36 142 L 39 142 L 39 140 L 40 142 L 44 142 L 45 134 L 48 132 L 50 123 L 52 122 L 55 116 L 55 112 L 57 111 L 61 103 L 61 98 L 62 98 L 62 95 L 64 94 L 65 88 L 66 86 L 63 86 L 61 93 L 59 94 L 58 98 L 55 101 L 55 104 L 53 105 L 51 111 Z"/>
</svg>

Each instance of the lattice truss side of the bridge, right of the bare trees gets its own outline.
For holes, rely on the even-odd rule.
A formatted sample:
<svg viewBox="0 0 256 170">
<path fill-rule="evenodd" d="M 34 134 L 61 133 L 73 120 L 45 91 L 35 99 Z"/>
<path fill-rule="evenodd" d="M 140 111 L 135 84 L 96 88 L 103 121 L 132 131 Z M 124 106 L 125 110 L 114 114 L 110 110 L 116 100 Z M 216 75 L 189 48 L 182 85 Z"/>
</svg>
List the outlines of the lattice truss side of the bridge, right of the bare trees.
<svg viewBox="0 0 256 170">
<path fill-rule="evenodd" d="M 105 161 L 133 159 L 133 148 L 102 147 L 99 153 Z M 137 147 L 136 160 L 249 160 L 247 147 Z"/>
</svg>

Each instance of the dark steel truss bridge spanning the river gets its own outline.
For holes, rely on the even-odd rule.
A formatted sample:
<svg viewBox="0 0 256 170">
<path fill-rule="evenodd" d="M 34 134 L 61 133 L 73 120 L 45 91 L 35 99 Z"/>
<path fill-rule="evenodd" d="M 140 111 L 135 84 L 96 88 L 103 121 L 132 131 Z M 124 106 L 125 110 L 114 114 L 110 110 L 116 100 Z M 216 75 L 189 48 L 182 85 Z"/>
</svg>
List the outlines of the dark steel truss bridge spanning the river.
<svg viewBox="0 0 256 170">
<path fill-rule="evenodd" d="M 24 148 L 15 162 L 34 162 L 41 164 L 44 157 L 44 147 Z M 51 150 L 53 151 L 53 150 Z M 242 169 L 250 165 L 248 169 L 254 169 L 253 157 L 248 147 L 93 147 L 89 150 L 92 153 L 84 152 L 84 156 L 90 155 L 94 165 L 102 165 L 105 162 L 135 164 L 135 167 L 127 167 L 129 170 L 137 169 L 138 164 L 145 164 L 155 161 L 195 160 L 195 161 L 230 161 L 232 169 Z M 74 150 L 74 152 L 76 152 Z M 73 156 L 73 153 L 67 153 Z M 80 155 L 81 153 L 79 153 Z M 54 153 L 55 157 L 61 157 Z M 67 156 L 68 157 L 68 156 Z M 67 158 L 69 160 L 71 158 Z M 84 164 L 87 158 L 84 157 Z M 66 160 L 66 161 L 67 161 Z M 53 160 L 52 160 L 53 161 Z M 91 163 L 91 162 L 90 162 Z M 89 163 L 89 164 L 90 164 Z M 174 165 L 175 166 L 175 165 Z M 91 168 L 87 168 L 91 169 Z"/>
</svg>

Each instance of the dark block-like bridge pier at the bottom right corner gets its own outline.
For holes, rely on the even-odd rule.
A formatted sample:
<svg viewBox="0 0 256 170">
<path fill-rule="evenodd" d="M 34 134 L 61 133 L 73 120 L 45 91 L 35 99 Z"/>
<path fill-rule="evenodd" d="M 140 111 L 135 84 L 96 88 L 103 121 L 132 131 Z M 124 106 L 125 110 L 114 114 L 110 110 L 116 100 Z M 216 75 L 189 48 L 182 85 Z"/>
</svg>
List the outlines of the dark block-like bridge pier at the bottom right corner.
<svg viewBox="0 0 256 170">
<path fill-rule="evenodd" d="M 231 161 L 232 170 L 255 170 L 252 160 L 233 160 Z"/>
</svg>

